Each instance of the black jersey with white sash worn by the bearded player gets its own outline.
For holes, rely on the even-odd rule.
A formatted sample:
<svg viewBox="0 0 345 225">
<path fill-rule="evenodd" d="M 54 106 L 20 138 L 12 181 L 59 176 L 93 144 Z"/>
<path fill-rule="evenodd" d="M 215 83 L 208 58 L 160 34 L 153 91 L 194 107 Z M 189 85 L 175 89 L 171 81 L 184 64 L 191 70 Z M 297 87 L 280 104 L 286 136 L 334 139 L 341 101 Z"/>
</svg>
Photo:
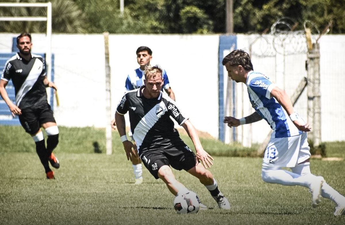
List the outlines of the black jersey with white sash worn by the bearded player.
<svg viewBox="0 0 345 225">
<path fill-rule="evenodd" d="M 47 102 L 45 75 L 46 66 L 40 55 L 31 54 L 31 59 L 26 61 L 17 53 L 6 62 L 1 79 L 12 79 L 16 104 L 23 109 Z"/>
</svg>

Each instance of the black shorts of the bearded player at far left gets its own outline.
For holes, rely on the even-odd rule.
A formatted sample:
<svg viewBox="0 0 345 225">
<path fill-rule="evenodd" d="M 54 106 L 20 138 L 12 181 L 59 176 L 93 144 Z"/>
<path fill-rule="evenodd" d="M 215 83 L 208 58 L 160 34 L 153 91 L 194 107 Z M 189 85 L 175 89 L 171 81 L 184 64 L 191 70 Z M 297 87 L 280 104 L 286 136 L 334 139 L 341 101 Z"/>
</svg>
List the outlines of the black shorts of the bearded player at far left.
<svg viewBox="0 0 345 225">
<path fill-rule="evenodd" d="M 53 111 L 48 102 L 37 107 L 25 108 L 21 110 L 21 115 L 18 115 L 20 124 L 29 134 L 36 134 L 41 125 L 46 122 L 56 123 Z"/>
</svg>

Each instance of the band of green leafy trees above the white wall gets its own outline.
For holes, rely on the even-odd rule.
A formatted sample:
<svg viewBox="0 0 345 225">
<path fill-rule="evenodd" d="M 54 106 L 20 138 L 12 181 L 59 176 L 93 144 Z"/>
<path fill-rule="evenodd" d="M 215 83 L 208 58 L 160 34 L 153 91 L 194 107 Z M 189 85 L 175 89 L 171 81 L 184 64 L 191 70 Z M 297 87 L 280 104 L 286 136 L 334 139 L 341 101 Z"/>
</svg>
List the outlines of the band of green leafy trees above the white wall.
<svg viewBox="0 0 345 225">
<path fill-rule="evenodd" d="M 2 0 L 47 2 L 48 0 Z M 207 34 L 225 32 L 226 0 L 49 0 L 53 32 L 119 34 Z M 331 33 L 345 33 L 344 0 L 233 0 L 234 32 L 268 32 L 278 19 L 289 17 L 294 29 L 306 20 Z M 44 16 L 42 8 L 0 8 L 0 16 Z M 0 32 L 44 32 L 45 22 L 0 21 Z"/>
</svg>

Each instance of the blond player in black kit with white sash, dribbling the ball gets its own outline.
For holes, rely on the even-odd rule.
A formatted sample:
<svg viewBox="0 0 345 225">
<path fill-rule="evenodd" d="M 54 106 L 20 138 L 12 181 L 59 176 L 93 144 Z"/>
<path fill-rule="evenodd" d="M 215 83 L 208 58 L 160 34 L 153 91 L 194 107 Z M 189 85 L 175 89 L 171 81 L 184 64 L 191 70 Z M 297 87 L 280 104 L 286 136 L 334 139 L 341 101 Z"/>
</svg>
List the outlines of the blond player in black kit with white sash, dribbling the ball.
<svg viewBox="0 0 345 225">
<path fill-rule="evenodd" d="M 161 91 L 163 84 L 162 69 L 158 66 L 148 67 L 144 86 L 127 92 L 117 106 L 115 120 L 127 160 L 136 154 L 137 148 L 140 159 L 152 176 L 162 179 L 174 195 L 185 194 L 189 190 L 176 180 L 170 166 L 177 170 L 184 169 L 205 185 L 219 208 L 230 209 L 229 201 L 219 191 L 216 180 L 207 170 L 213 165 L 213 158 L 201 146 L 196 129 L 176 106 L 176 102 Z M 136 146 L 126 136 L 124 114 L 128 111 Z M 180 139 L 170 116 L 187 131 L 196 155 Z M 200 207 L 207 208 L 203 204 Z"/>
</svg>

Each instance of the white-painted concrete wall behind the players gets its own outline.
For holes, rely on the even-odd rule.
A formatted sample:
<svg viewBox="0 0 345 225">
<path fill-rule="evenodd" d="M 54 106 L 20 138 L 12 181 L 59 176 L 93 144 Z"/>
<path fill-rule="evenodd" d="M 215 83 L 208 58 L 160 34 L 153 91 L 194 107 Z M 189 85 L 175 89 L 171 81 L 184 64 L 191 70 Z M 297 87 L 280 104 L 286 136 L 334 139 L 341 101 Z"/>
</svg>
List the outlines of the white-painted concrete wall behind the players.
<svg viewBox="0 0 345 225">
<path fill-rule="evenodd" d="M 11 52 L 12 37 L 0 34 L 0 52 Z M 249 51 L 255 35 L 237 35 L 237 47 Z M 32 35 L 33 52 L 45 51 L 43 34 Z M 345 35 L 326 35 L 320 40 L 322 141 L 345 140 Z M 197 129 L 218 137 L 218 35 L 110 35 L 112 114 L 124 94 L 128 71 L 138 67 L 135 51 L 149 46 L 152 64 L 166 69 L 179 107 Z M 257 46 L 252 46 L 257 47 Z M 52 35 L 55 83 L 60 106 L 55 106 L 59 125 L 104 127 L 105 56 L 103 35 Z M 269 55 L 269 54 L 268 54 Z M 306 76 L 306 54 L 259 57 L 252 55 L 254 69 L 273 78 L 291 95 Z M 226 73 L 225 73 L 226 74 Z M 252 112 L 246 88 L 237 87 L 237 116 Z M 243 104 L 242 104 L 243 103 Z M 296 109 L 306 118 L 306 92 Z M 269 132 L 265 121 L 236 130 L 245 145 L 261 142 Z"/>
</svg>

